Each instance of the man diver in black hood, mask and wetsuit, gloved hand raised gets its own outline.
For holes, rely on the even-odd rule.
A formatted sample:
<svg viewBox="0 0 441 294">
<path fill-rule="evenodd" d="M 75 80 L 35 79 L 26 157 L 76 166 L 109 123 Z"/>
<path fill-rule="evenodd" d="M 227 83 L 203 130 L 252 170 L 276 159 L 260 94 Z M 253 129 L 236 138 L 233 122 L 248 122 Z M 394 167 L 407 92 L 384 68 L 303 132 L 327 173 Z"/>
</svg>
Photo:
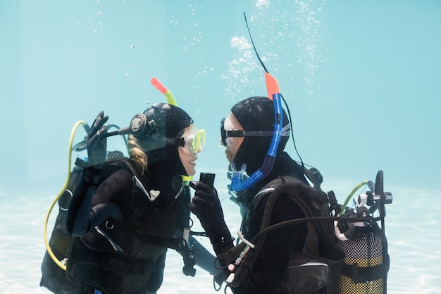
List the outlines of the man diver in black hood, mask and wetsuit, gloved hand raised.
<svg viewBox="0 0 441 294">
<path fill-rule="evenodd" d="M 244 167 L 247 175 L 253 175 L 261 168 L 273 138 L 274 109 L 273 101 L 268 97 L 250 97 L 232 107 L 230 114 L 221 123 L 221 144 L 225 146 L 225 156 L 231 166 Z M 301 183 L 309 185 L 304 176 L 304 168 L 283 151 L 290 135 L 290 122 L 285 111 L 282 111 L 281 115 L 282 132 L 273 168 L 261 180 L 237 195 L 237 202 L 244 211 L 242 233 L 246 240 L 251 240 L 259 233 L 268 200 L 262 189 L 268 183 L 280 176 L 292 176 Z M 221 255 L 234 247 L 216 189 L 204 183 L 197 183 L 189 207 L 208 233 L 216 255 Z M 304 213 L 297 203 L 289 197 L 279 197 L 271 214 L 270 225 L 303 217 Z M 249 276 L 240 285 L 232 287 L 233 293 L 284 293 L 280 290 L 280 285 L 285 276 L 290 254 L 302 252 L 306 233 L 306 223 L 268 233 L 260 255 L 249 271 Z M 229 272 L 225 269 L 225 274 Z"/>
</svg>

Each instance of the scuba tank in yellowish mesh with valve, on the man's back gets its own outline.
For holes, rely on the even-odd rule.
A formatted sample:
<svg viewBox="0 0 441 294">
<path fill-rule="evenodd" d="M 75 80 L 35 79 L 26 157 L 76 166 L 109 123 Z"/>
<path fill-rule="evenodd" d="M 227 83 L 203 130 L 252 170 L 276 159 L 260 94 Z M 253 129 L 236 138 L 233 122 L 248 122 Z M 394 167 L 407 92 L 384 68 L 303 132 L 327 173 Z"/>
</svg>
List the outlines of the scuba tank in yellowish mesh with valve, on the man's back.
<svg viewBox="0 0 441 294">
<path fill-rule="evenodd" d="M 387 292 L 389 255 L 384 219 L 385 204 L 392 203 L 392 193 L 383 191 L 383 171 L 378 171 L 375 184 L 366 181 L 366 185 L 371 191 L 354 197 L 356 208 L 340 212 L 349 221 L 335 221 L 336 243 L 345 255 L 339 294 Z M 380 216 L 374 218 L 377 209 Z"/>
</svg>

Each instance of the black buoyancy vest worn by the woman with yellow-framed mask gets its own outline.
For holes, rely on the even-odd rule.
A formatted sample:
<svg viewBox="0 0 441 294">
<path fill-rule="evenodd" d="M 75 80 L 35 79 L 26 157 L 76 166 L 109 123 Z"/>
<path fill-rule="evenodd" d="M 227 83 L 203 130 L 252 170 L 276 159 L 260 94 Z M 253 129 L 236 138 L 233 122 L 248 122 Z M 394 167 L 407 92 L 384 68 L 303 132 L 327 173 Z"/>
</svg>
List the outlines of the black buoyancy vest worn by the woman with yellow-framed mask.
<svg viewBox="0 0 441 294">
<path fill-rule="evenodd" d="M 132 195 L 121 195 L 128 197 L 131 216 L 125 216 L 120 223 L 108 219 L 86 235 L 73 238 L 66 230 L 66 212 L 73 194 L 70 191 L 75 191 L 82 172 L 74 169 L 68 190 L 58 200 L 60 210 L 50 240 L 56 257 L 67 258 L 67 274 L 46 252 L 40 286 L 57 294 L 75 293 L 80 284 L 104 293 L 118 293 L 121 288 L 124 293 L 155 292 L 161 286 L 167 248 L 180 250 L 182 246 L 180 238 L 173 238 L 178 226 L 176 207 L 173 203 L 159 207 L 147 198 L 149 185 L 137 176 L 130 159 L 108 162 L 97 187 L 119 169 L 127 169 L 133 175 Z M 182 185 L 179 182 L 175 186 L 178 184 Z"/>
</svg>

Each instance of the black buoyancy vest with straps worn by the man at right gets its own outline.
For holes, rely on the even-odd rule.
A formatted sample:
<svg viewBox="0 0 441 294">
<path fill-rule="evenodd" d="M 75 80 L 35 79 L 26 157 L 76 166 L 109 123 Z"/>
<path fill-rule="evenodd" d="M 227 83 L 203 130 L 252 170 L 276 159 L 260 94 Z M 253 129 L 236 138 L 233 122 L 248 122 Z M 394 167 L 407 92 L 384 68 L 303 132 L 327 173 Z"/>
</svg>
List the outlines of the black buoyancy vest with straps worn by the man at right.
<svg viewBox="0 0 441 294">
<path fill-rule="evenodd" d="M 278 290 L 284 293 L 315 293 L 317 290 L 320 293 L 337 293 L 344 253 L 333 243 L 333 221 L 310 221 L 311 217 L 329 216 L 328 195 L 291 176 L 276 178 L 254 197 L 250 209 L 254 209 L 263 197 L 268 197 L 261 230 L 251 239 L 251 243 L 255 245 L 254 249 L 240 243 L 219 256 L 226 264 L 234 265 L 229 267 L 233 271 L 227 282 L 232 287 L 239 286 L 247 278 L 249 270 L 259 256 L 266 234 L 284 226 L 284 223 L 269 226 L 274 204 L 280 196 L 290 197 L 302 209 L 305 218 L 296 221 L 306 221 L 308 233 L 304 252 L 292 252 L 285 277 Z M 250 214 L 249 211 L 248 215 Z"/>
</svg>

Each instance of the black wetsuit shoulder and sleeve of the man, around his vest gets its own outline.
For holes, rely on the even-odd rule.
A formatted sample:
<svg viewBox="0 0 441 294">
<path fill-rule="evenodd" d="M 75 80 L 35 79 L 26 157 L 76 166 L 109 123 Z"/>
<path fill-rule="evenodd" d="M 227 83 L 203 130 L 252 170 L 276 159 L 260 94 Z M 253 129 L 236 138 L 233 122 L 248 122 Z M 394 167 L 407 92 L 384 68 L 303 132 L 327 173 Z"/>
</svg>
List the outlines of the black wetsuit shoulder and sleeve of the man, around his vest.
<svg viewBox="0 0 441 294">
<path fill-rule="evenodd" d="M 280 154 L 275 160 L 273 171 L 254 185 L 254 187 L 249 189 L 245 195 L 240 197 L 241 204 L 246 208 L 244 210 L 248 209 L 242 221 L 242 233 L 244 233 L 244 237 L 247 238 L 247 240 L 251 240 L 254 235 L 259 233 L 263 209 L 268 200 L 268 195 L 263 197 L 254 209 L 250 207 L 251 201 L 264 185 L 278 176 L 293 176 L 302 183 L 307 184 L 302 166 L 292 160 L 286 152 Z M 283 196 L 283 194 L 280 195 L 277 202 L 275 202 L 270 225 L 304 217 L 302 209 L 288 197 Z M 278 287 L 285 276 L 285 270 L 290 259 L 290 252 L 302 252 L 306 233 L 307 228 L 305 223 L 287 226 L 268 233 L 259 257 L 256 259 L 253 269 L 249 273 L 249 277 L 239 287 L 231 288 L 232 291 L 235 294 L 282 293 L 278 292 Z M 228 250 L 229 248 L 223 247 L 223 249 Z"/>
</svg>

